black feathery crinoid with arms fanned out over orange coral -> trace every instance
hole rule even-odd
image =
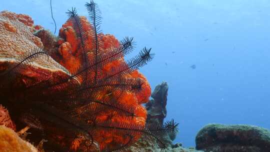
[[[151,49],[143,48],[124,61],[134,48],[133,38],[105,48],[97,4],[91,0],[85,7],[91,23],[88,30],[75,8],[67,12],[79,66],[63,69],[66,74],[61,75],[44,70],[38,77],[23,77],[36,62],[51,59],[46,50],[32,48],[1,69],[0,103],[8,107],[17,124],[20,121],[32,132],[41,132],[50,142],[48,149],[57,144],[58,151],[124,151],[139,138],[166,149],[163,136],[175,133],[177,124],[148,126],[144,108],[131,102],[145,83],[132,73],[152,59]],[[104,70],[108,65],[109,70]],[[32,138],[36,136],[32,133]]]

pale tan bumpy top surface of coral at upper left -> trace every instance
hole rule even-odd
[[[31,52],[34,48],[43,48],[40,38],[33,35],[34,27],[30,25],[32,20],[27,15],[23,17],[22,14],[9,11],[0,12],[0,64],[4,61],[12,62],[19,55]],[[40,70],[60,72],[65,70],[51,57],[45,55],[34,60],[32,65]]]

